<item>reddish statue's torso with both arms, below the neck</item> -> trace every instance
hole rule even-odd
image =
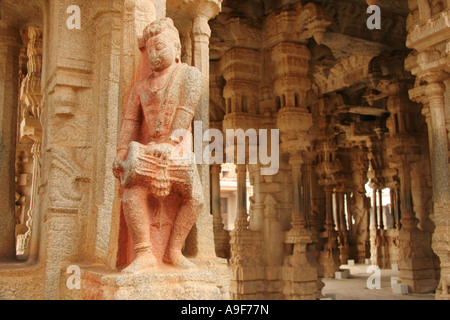
[[[133,88],[123,117],[119,149],[127,149],[132,141],[175,144],[172,133],[189,130],[201,96],[200,71],[178,64],[161,82],[158,88],[145,79]]]

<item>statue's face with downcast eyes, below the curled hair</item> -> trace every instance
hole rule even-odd
[[[147,42],[147,53],[154,71],[162,71],[175,63],[177,49],[173,35],[164,31]]]

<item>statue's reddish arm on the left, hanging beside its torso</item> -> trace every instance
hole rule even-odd
[[[126,152],[130,142],[137,141],[139,138],[139,130],[142,123],[142,107],[138,91],[136,85],[130,93],[123,113],[119,145],[117,148],[118,153]]]

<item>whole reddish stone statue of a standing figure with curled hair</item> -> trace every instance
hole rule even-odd
[[[169,18],[147,26],[142,49],[150,72],[129,95],[113,167],[136,253],[123,272],[162,263],[194,268],[182,248],[201,212],[203,189],[194,162],[175,161],[174,154],[180,131],[190,133],[202,75],[181,63],[179,33]]]

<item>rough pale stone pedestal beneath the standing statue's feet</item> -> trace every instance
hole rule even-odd
[[[194,259],[193,259],[194,260]],[[167,268],[135,275],[105,268],[81,267],[81,288],[61,281],[64,299],[75,300],[227,300],[229,276],[225,261],[195,260],[198,269]]]

